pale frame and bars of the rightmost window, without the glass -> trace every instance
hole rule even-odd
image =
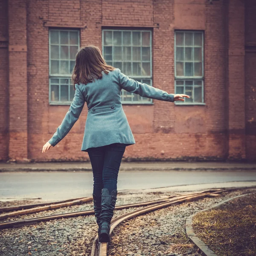
[[[178,32],[183,32],[183,33],[201,33],[202,35],[202,76],[177,76],[177,69],[176,69],[176,33]],[[184,84],[186,81],[193,81],[193,91],[192,91],[192,97],[193,97],[193,100],[195,99],[194,97],[194,93],[195,93],[195,84],[194,84],[194,81],[196,80],[199,80],[202,82],[202,102],[183,102],[183,101],[175,101],[175,105],[206,105],[205,102],[204,102],[204,79],[205,79],[205,75],[204,75],[204,49],[205,49],[205,45],[204,45],[204,37],[205,37],[205,33],[204,33],[204,30],[186,30],[186,29],[175,29],[174,30],[174,76],[175,76],[175,84],[174,84],[174,87],[175,87],[175,94],[177,94],[177,85],[176,85],[176,81],[184,81]],[[184,51],[185,51],[185,47],[186,45],[184,44],[183,48],[184,48]],[[193,47],[192,47],[192,51],[193,51],[193,58],[195,58],[195,43],[193,41]],[[195,63],[194,62],[195,60],[193,60],[193,64]],[[185,53],[184,53],[184,61],[185,62]],[[184,70],[185,72],[185,70]],[[193,73],[194,73],[194,65],[193,65]],[[184,85],[185,87],[185,85]],[[183,87],[183,88],[184,88]],[[183,90],[184,91],[184,90]],[[185,94],[185,92],[183,93]],[[186,98],[185,98],[186,100]]]

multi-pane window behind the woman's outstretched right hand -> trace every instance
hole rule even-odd
[[[190,96],[175,104],[204,104],[204,33],[175,31],[175,93]]]

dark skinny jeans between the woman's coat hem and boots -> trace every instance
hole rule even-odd
[[[88,148],[88,155],[93,169],[93,194],[101,195],[107,188],[109,194],[117,189],[117,177],[126,145],[113,143],[96,148]]]

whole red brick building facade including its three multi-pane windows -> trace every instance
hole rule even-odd
[[[76,44],[98,46],[113,65],[132,67],[128,73],[168,93],[192,93],[187,104],[124,96],[136,140],[124,158],[256,160],[255,13],[255,0],[0,1],[0,160],[89,160],[80,151],[86,104],[67,136],[41,152],[71,103],[58,85],[63,76],[51,72],[72,68]],[[132,47],[125,46],[128,32]],[[62,45],[61,35],[70,41]],[[145,45],[136,46],[136,36]],[[69,54],[66,62],[61,54]],[[124,64],[124,55],[134,62]],[[72,91],[66,96],[72,101]]]

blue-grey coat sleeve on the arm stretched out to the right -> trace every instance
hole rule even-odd
[[[122,89],[127,90],[130,93],[139,94],[142,97],[174,102],[174,94],[169,94],[166,91],[160,90],[151,85],[135,81],[134,79],[125,76],[125,74],[123,74],[119,68],[117,71],[119,76],[119,84]]]

